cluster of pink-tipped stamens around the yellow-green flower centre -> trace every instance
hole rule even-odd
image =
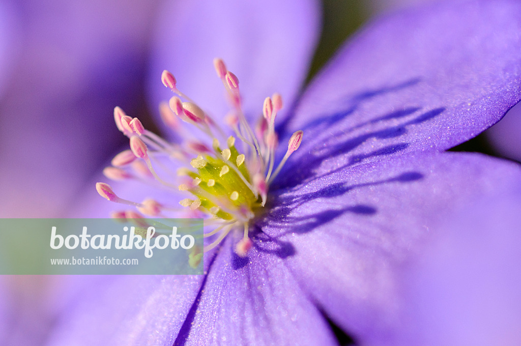
[[[239,79],[226,68],[221,59],[214,59],[214,66],[232,106],[225,121],[235,137],[227,136],[208,113],[179,91],[176,79],[165,70],[161,76],[162,82],[176,95],[170,98],[168,104],[162,103],[159,112],[166,125],[182,139],[182,144],[170,143],[148,131],[138,118],[131,118],[116,107],[114,120],[118,129],[130,139],[130,150],[116,155],[111,162],[112,166],[106,167],[103,172],[113,180],[139,179],[168,190],[186,191],[190,197],[179,202],[188,212],[185,215],[206,218],[205,226],[210,226],[212,230],[205,233],[204,237],[218,234],[212,243],[204,246],[204,251],[213,249],[230,231],[239,229],[244,232],[244,236],[236,244],[235,252],[245,256],[252,246],[249,237],[251,220],[261,213],[266,204],[270,182],[299,147],[303,132],[293,133],[286,155],[275,168],[275,150],[278,145],[275,117],[282,108],[282,97],[279,94],[266,97],[263,117],[254,131],[242,110]],[[186,138],[178,119],[206,134],[208,143]],[[239,149],[236,144],[240,143],[236,143],[235,138],[242,142]],[[175,179],[172,179],[165,159],[181,162],[186,167],[178,169]],[[157,170],[158,167],[161,171]],[[141,203],[121,199],[106,183],[96,183],[96,190],[109,201],[135,206],[139,211],[114,212],[112,216],[115,218],[142,219],[143,215],[171,217],[171,213],[179,212],[178,207],[161,204],[150,198]]]

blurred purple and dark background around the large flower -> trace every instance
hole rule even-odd
[[[100,198],[92,181],[127,143],[114,125],[116,105],[154,128],[157,105],[147,104],[144,86],[165,1],[172,0],[0,0],[0,217],[74,216],[78,201]],[[427,1],[323,0],[308,80],[371,17]],[[521,161],[521,107],[453,150]],[[55,313],[41,296],[54,284],[4,283],[10,293],[0,298],[0,314],[16,305],[7,325],[18,330],[19,344],[37,344]]]

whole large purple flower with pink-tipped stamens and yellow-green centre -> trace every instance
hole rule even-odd
[[[156,124],[114,105],[129,145],[70,217],[204,218],[204,274],[57,282],[42,344],[521,342],[521,167],[453,149],[521,100],[521,3],[376,16],[307,81],[320,23],[314,0],[159,6]]]

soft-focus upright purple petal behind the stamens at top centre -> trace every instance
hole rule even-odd
[[[160,82],[168,69],[183,93],[222,119],[230,106],[212,62],[220,57],[239,78],[246,115],[260,116],[275,92],[293,102],[318,39],[319,8],[315,0],[168,2],[157,29],[154,107],[172,96]]]

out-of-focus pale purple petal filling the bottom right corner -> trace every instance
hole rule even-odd
[[[454,213],[403,269],[400,338],[385,345],[521,344],[521,184]]]

